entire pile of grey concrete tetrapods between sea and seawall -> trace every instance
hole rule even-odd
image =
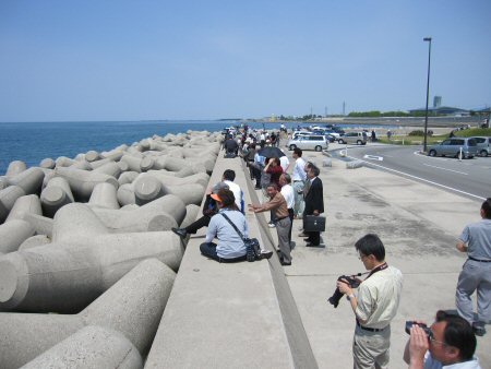
[[[141,368],[220,133],[12,162],[0,177],[0,367]],[[70,365],[68,365],[70,362]]]

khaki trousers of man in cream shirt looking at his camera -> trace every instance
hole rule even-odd
[[[352,341],[354,368],[388,368],[390,346],[391,326],[382,332],[369,332],[357,325]]]

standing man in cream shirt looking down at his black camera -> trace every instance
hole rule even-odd
[[[384,245],[376,235],[366,235],[355,248],[370,271],[358,287],[358,297],[347,281],[337,282],[337,288],[351,305],[357,323],[352,343],[354,368],[388,368],[391,321],[399,307],[403,274],[387,265]]]

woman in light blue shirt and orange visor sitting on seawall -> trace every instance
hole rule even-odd
[[[209,221],[205,242],[200,246],[201,253],[224,263],[244,261],[246,245],[224,216],[236,225],[244,238],[248,237],[248,223],[236,205],[233,192],[220,189],[217,193],[212,193],[212,199],[218,205],[218,214]],[[218,245],[212,242],[215,237],[218,238]]]

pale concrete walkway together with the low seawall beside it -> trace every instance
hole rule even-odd
[[[290,156],[290,152],[287,153]],[[320,153],[304,158],[321,167],[324,183],[325,248],[306,248],[294,222],[292,265],[270,261],[219,264],[202,257],[204,230],[188,243],[146,367],[148,368],[351,368],[355,319],[346,300],[326,299],[342,274],[363,272],[355,242],[368,233],[385,245],[387,262],[405,281],[392,324],[391,368],[403,361],[406,320],[431,323],[439,309],[454,309],[455,286],[465,255],[455,249],[467,223],[479,219],[480,203],[375,169],[346,169]],[[290,162],[294,160],[290,158]],[[209,183],[236,170],[246,203],[263,201],[240,159],[219,156]],[[290,169],[291,170],[291,169]],[[247,213],[251,236],[272,248],[276,231],[263,215]],[[491,367],[491,334],[478,337],[477,356]]]

